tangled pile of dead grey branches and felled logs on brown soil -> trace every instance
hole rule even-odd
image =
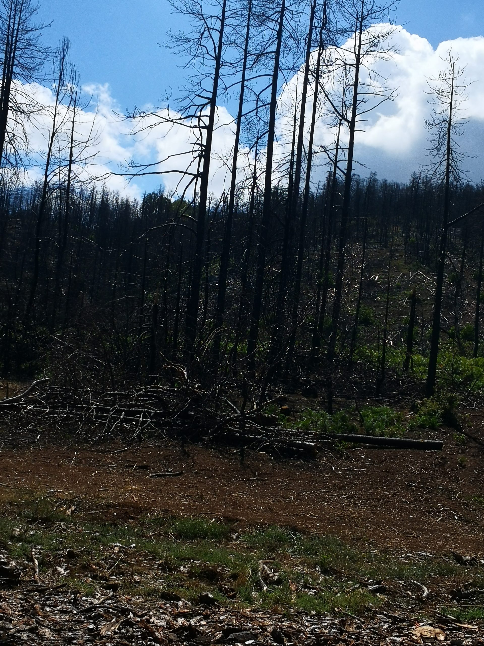
[[[100,391],[34,382],[23,393],[0,401],[0,419],[12,435],[38,440],[41,435],[70,436],[88,443],[147,437],[181,442],[223,445],[274,453],[281,457],[314,458],[318,448],[336,441],[387,448],[439,450],[430,440],[321,433],[310,428],[290,428],[265,408],[282,396],[256,404],[242,389],[238,408],[222,394],[221,386],[208,391],[199,384],[150,385],[126,390]],[[249,404],[249,405],[247,405]]]

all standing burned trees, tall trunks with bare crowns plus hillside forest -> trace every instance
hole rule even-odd
[[[393,3],[174,8],[190,26],[171,47],[190,58],[191,85],[175,110],[130,119],[138,134],[180,127],[192,143],[178,191],[136,201],[92,170],[96,127],[79,126],[86,99],[68,41],[48,50],[34,4],[0,1],[3,380],[49,377],[114,398],[190,381],[218,402],[227,386],[237,412],[281,384],[323,396],[330,414],[337,399],[479,395],[484,186],[462,171],[458,58],[449,52],[429,85],[428,165],[388,182],[356,174],[354,144],[365,114],[402,91],[368,63],[394,53]],[[297,96],[284,102],[289,72]],[[24,96],[28,83],[46,85],[52,105]],[[230,92],[234,140],[214,193],[217,106]],[[40,113],[35,153],[19,124]],[[323,122],[330,145],[316,143]],[[116,172],[168,181],[163,163]],[[34,167],[39,180],[26,183]]]

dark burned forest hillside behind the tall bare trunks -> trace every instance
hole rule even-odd
[[[338,197],[340,189],[338,184]],[[163,193],[148,194],[138,204],[107,191],[81,190],[71,196],[66,222],[61,195],[53,195],[44,225],[35,304],[28,313],[36,218],[32,205],[39,199],[38,191],[14,189],[3,202],[4,379],[28,380],[45,374],[59,385],[118,390],[126,382],[182,382],[183,366],[207,382],[241,379],[250,366],[261,381],[292,373],[299,377],[327,374],[334,247],[338,244],[335,232],[339,227],[335,209],[333,230],[328,231],[330,188],[310,196],[300,311],[294,327],[289,307],[293,271],[288,271],[281,321],[276,320],[284,235],[280,215],[287,194],[277,189],[272,193],[279,217],[274,217],[268,231],[261,326],[254,357],[248,357],[247,338],[257,262],[256,220],[262,198],[254,203],[254,218],[248,217],[250,204],[237,205],[217,363],[213,359],[214,317],[226,218],[224,205],[208,209],[197,344],[191,364],[184,349],[184,331],[192,288],[196,209],[173,202]],[[469,211],[484,201],[483,193],[482,187],[472,186],[455,191],[452,213]],[[409,377],[415,382],[425,380],[442,200],[441,189],[429,180],[414,178],[408,185],[360,178],[352,182],[334,370],[339,379],[361,389],[361,395],[374,395],[377,388],[382,392],[387,386],[394,388],[395,379],[401,380],[403,375],[405,383]],[[62,236],[66,225],[65,260],[59,266],[59,230]],[[481,218],[472,216],[450,229],[443,287],[438,380],[446,389],[459,387],[469,393],[484,382],[479,376],[484,368],[483,339],[476,317],[481,300],[482,231]],[[327,274],[324,267],[321,271],[321,249],[330,251]],[[61,285],[57,295],[56,282]],[[276,326],[281,329],[277,351]],[[296,342],[290,351],[293,333]],[[349,383],[340,385],[352,395]]]

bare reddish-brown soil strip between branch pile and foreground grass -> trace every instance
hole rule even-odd
[[[484,435],[479,427],[473,432]],[[0,453],[0,481],[96,499],[105,519],[203,515],[378,548],[482,554],[484,449],[469,441],[461,466],[452,432],[444,441],[442,452],[357,448],[345,457],[320,453],[307,463],[250,453],[244,466],[235,452],[189,446],[187,455],[174,443],[116,453],[116,446],[34,445]],[[168,470],[183,474],[148,477]]]

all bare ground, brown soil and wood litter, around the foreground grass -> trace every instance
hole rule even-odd
[[[474,415],[472,419],[472,433],[483,439],[481,418]],[[25,527],[4,528],[3,548],[12,554],[17,550],[17,556],[12,560],[0,554],[4,576],[0,644],[410,646],[441,640],[452,646],[483,646],[481,606],[476,605],[483,586],[478,586],[476,564],[484,556],[484,448],[470,440],[459,446],[452,430],[439,435],[444,441],[442,452],[352,448],[343,453],[320,452],[314,461],[277,460],[251,452],[244,464],[235,450],[183,448],[174,442],[89,448],[47,444],[40,438],[28,446],[3,446],[0,510],[5,509],[7,524],[8,518],[25,524],[15,509],[21,511],[23,501],[32,496],[57,499],[55,508],[63,505],[65,514],[76,513],[72,526],[61,518],[39,517]],[[109,531],[116,532],[116,527],[122,530],[131,525],[136,532],[136,520],[150,516],[234,521],[230,531],[236,534],[227,539],[227,545],[213,543],[214,558],[224,545],[230,555],[240,550],[240,545],[230,541],[243,536],[239,530],[245,526],[278,525],[303,534],[339,537],[367,554],[374,549],[375,554],[390,555],[390,561],[408,561],[410,565],[400,569],[419,572],[419,581],[425,581],[428,589],[409,573],[405,580],[385,579],[374,585],[368,576],[336,568],[327,574],[311,570],[319,583],[310,585],[321,589],[307,590],[309,584],[301,583],[303,579],[296,582],[295,570],[296,574],[289,575],[294,580],[287,583],[294,607],[281,607],[277,603],[280,583],[270,583],[276,581],[277,573],[269,567],[272,605],[265,607],[257,601],[263,594],[257,581],[252,581],[254,607],[237,605],[237,600],[232,603],[232,598],[220,602],[203,593],[206,582],[192,580],[198,570],[202,578],[204,572],[216,572],[225,577],[219,589],[227,592],[224,586],[231,581],[224,574],[227,567],[207,567],[199,560],[203,549],[212,554],[211,543],[197,547],[188,541],[188,551],[199,552],[187,561],[183,547],[178,561],[166,569],[166,559],[159,561],[156,550],[148,552],[147,543],[145,547],[143,543],[125,545],[132,540],[128,534],[121,542],[111,537],[103,543],[99,537],[96,552],[95,543],[88,541],[97,540],[99,528],[93,534],[80,526],[85,521],[110,523]],[[141,523],[139,528],[136,541],[148,531]],[[30,559],[28,550],[19,552],[23,543],[17,541],[25,542],[35,532],[50,534],[43,547],[35,547],[42,561],[34,581],[34,547]],[[85,541],[83,547],[67,549],[70,543],[64,541],[76,545],[76,539]],[[144,537],[145,542],[157,539],[163,539],[163,532],[150,530]],[[182,543],[175,541],[174,549],[180,550]],[[165,550],[167,545],[171,543],[166,543]],[[280,557],[283,550],[277,554]],[[456,556],[473,558],[455,566]],[[428,557],[428,565],[418,565],[422,559],[427,563]],[[274,558],[270,554],[259,565],[270,565]],[[453,562],[456,571],[449,579],[439,574],[439,568],[452,569]],[[424,572],[429,580],[421,578]],[[202,594],[187,601],[181,592],[170,592],[170,585],[181,585],[180,581],[201,586]],[[156,590],[148,594],[154,584]],[[218,583],[210,585],[213,588]],[[343,600],[348,605],[351,595],[360,592],[361,603],[367,601],[361,613],[354,610],[358,616],[342,609]],[[316,600],[332,594],[334,609],[310,610],[306,599],[312,599],[311,594]]]

